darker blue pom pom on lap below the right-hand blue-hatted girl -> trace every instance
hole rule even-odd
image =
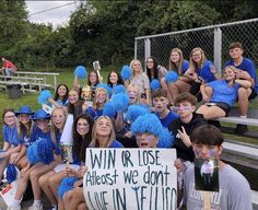
[[[54,161],[52,154],[54,144],[51,140],[42,139],[37,144],[37,153],[40,159],[40,162],[48,165]]]

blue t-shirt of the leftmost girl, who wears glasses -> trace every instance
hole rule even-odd
[[[10,143],[11,145],[19,145],[22,144],[22,142],[19,140],[17,137],[17,127],[16,125],[11,128],[7,125],[3,125],[2,127],[2,135],[3,135],[3,140],[8,143]]]

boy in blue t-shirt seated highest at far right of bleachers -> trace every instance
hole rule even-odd
[[[238,42],[232,43],[228,47],[231,59],[225,62],[226,66],[235,66],[241,71],[237,73],[236,79],[244,79],[251,82],[251,88],[238,89],[238,110],[241,118],[247,117],[248,112],[248,100],[253,100],[257,96],[258,93],[258,81],[255,63],[253,60],[243,57],[244,48],[243,45]],[[247,131],[246,125],[237,125],[235,132],[237,135],[243,135]]]

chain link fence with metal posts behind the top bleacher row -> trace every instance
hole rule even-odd
[[[207,58],[213,61],[220,71],[230,58],[228,46],[233,42],[241,42],[245,50],[244,56],[258,63],[258,19],[141,36],[136,37],[134,42],[134,57],[142,63],[152,56],[160,65],[168,68],[172,48],[180,48],[184,58],[189,60],[191,49],[201,47]]]

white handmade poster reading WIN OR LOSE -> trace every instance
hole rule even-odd
[[[83,194],[87,208],[176,209],[175,149],[87,149]]]

